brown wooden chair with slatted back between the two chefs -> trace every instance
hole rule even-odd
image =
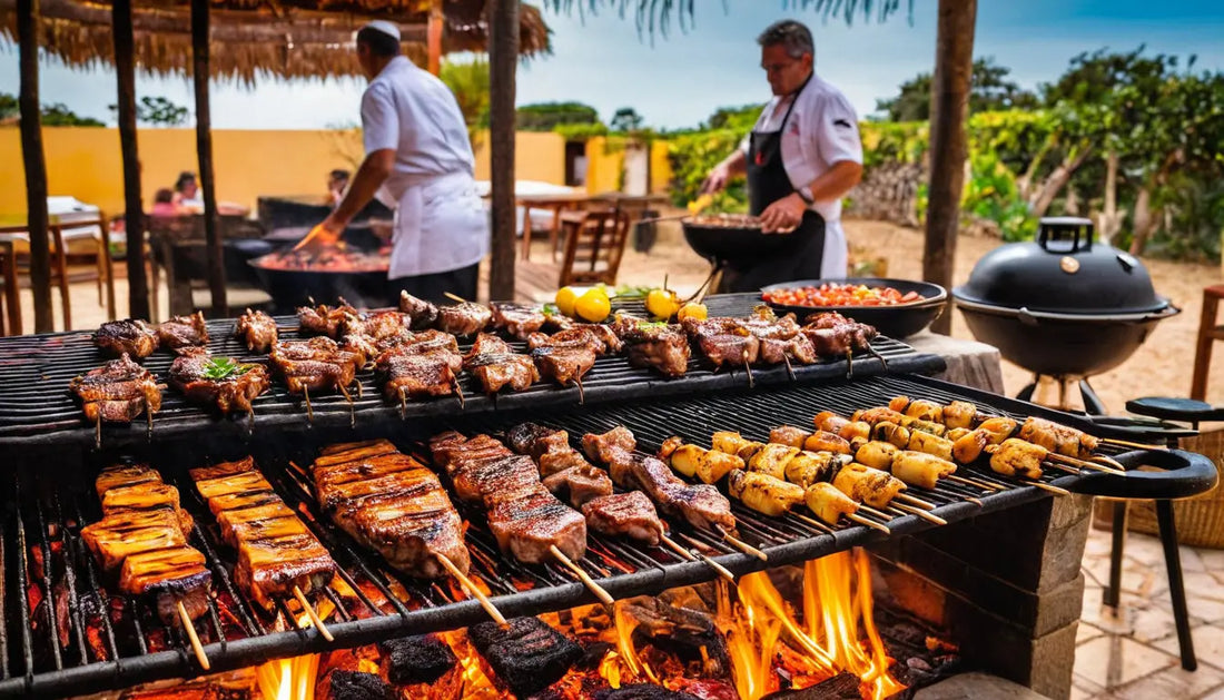
[[[558,286],[616,284],[621,258],[629,240],[629,215],[619,209],[584,212],[563,217],[565,259]]]

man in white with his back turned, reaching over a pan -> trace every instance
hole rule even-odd
[[[490,226],[468,127],[450,89],[401,56],[399,40],[399,27],[381,20],[357,32],[357,60],[370,80],[361,97],[366,158],[335,210],[299,247],[334,245],[377,195],[395,206],[390,292],[475,299]]]

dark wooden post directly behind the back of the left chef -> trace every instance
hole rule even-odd
[[[493,213],[488,299],[514,299],[514,78],[519,0],[488,1],[488,147]]]

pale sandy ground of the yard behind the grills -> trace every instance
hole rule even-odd
[[[920,277],[923,245],[920,231],[880,222],[846,222],[846,230],[857,255],[864,258],[886,258],[890,277],[909,279]],[[1000,244],[995,239],[962,236],[956,255],[956,284],[962,284],[968,278],[973,263],[998,245]],[[541,240],[537,247],[532,248],[534,261],[548,257],[546,246],[547,244]],[[1124,404],[1131,398],[1157,394],[1187,395],[1195,360],[1193,344],[1202,305],[1202,289],[1224,281],[1219,267],[1166,261],[1146,261],[1146,264],[1155,281],[1157,291],[1170,297],[1182,313],[1162,322],[1126,363],[1092,379],[1093,388],[1115,414],[1122,412]],[[87,272],[88,268],[77,269]],[[120,306],[127,299],[121,270],[122,268],[115,285]],[[709,264],[685,245],[679,224],[667,222],[659,224],[659,239],[649,253],[639,253],[632,245],[625,251],[619,283],[659,285],[667,275],[670,286],[687,295],[705,280],[707,273]],[[105,312],[98,306],[92,280],[72,284],[71,297],[73,328],[95,328],[105,321]],[[33,310],[28,291],[23,291],[22,301],[24,329],[29,333],[33,327]],[[55,326],[62,328],[58,292],[54,302]],[[162,308],[165,308],[164,294]],[[972,338],[958,312],[953,315],[952,335]],[[1034,338],[1033,341],[1039,343],[1040,339]],[[1005,362],[1004,379],[1009,394],[1020,392],[1031,378],[1026,371]],[[1214,373],[1211,377],[1207,398],[1217,404],[1224,403],[1224,343],[1215,345]]]

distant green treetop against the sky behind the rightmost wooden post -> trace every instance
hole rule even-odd
[[[1007,80],[1009,75],[1011,69],[995,64],[994,56],[976,59],[969,114],[1038,106],[1037,95]],[[930,119],[930,73],[918,73],[901,83],[897,97],[876,100],[876,111],[885,113],[890,121],[927,121]]]

